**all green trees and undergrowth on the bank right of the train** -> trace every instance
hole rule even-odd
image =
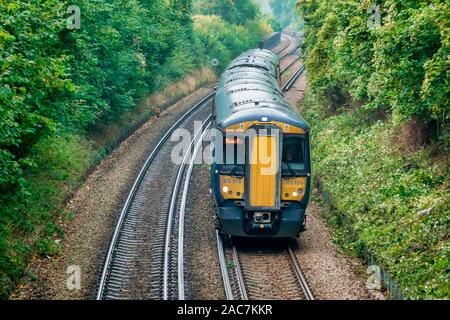
[[[420,119],[448,151],[449,2],[386,0],[369,28],[372,4],[299,1],[315,175],[341,246],[369,250],[407,298],[446,299],[448,156],[434,144],[406,154],[396,137]]]

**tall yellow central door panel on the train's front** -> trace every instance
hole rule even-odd
[[[255,136],[250,152],[250,206],[276,205],[278,154],[273,136]]]

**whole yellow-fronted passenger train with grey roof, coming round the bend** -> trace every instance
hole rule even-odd
[[[216,227],[238,237],[298,237],[311,193],[310,127],[286,101],[280,61],[251,49],[221,75],[213,102]]]

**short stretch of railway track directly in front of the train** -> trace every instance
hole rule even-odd
[[[289,245],[227,246],[218,232],[216,237],[228,300],[314,300]]]

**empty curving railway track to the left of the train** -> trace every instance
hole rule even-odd
[[[186,298],[184,214],[191,160],[207,130],[195,133],[192,155],[186,154],[178,166],[168,161],[172,150],[169,138],[176,129],[188,128],[195,120],[202,120],[203,129],[207,129],[211,117],[207,106],[213,96],[209,94],[166,132],[138,174],[111,240],[97,299]]]

